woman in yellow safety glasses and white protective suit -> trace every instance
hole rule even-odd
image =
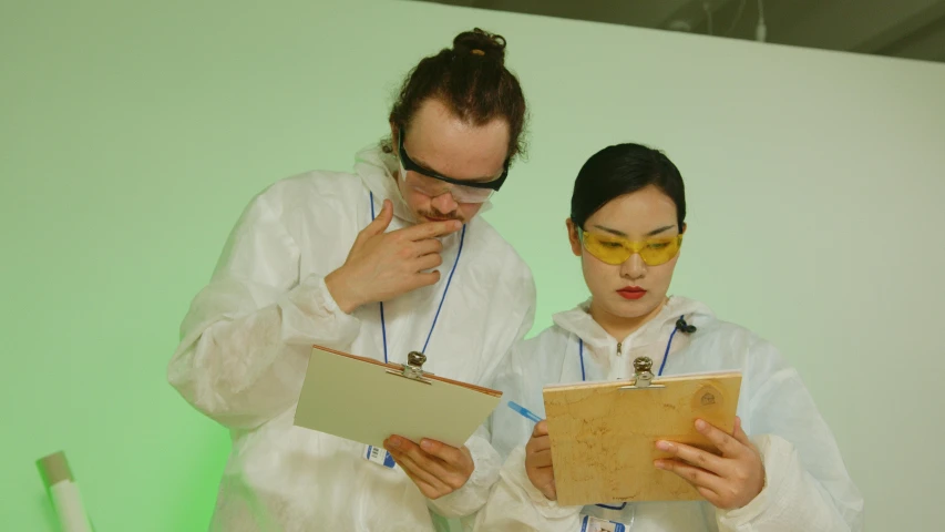
[[[606,147],[582,167],[571,205],[568,242],[592,297],[516,346],[493,386],[544,418],[545,385],[628,379],[637,357],[649,357],[659,376],[739,370],[735,430],[696,422],[718,453],[656,443],[672,458],[654,468],[690,482],[705,501],[568,508],[555,502],[546,422],[533,426],[512,409],[496,410],[492,442],[505,464],[477,529],[862,530],[863,499],[798,372],[751,331],[698,301],[667,296],[686,232],[676,165],[638,144]]]

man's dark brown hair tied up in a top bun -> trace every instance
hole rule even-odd
[[[483,125],[494,119],[509,123],[509,158],[524,152],[525,96],[518,79],[505,68],[505,39],[479,28],[453,39],[444,48],[414,66],[400,89],[390,111],[390,121],[400,127],[410,121],[428,99],[435,98],[461,120]],[[383,149],[392,151],[390,142]]]

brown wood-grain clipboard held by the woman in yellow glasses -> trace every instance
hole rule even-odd
[[[587,505],[688,501],[702,497],[675,473],[656,469],[668,458],[658,440],[718,453],[697,419],[727,433],[735,429],[741,374],[653,378],[653,362],[635,360],[633,380],[544,388],[557,502]]]

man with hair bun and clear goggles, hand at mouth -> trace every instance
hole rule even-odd
[[[505,40],[463,32],[407,75],[390,139],[355,172],[297,175],[250,202],[168,367],[230,429],[212,530],[422,531],[485,503],[501,461],[484,428],[461,448],[391,434],[374,449],[294,417],[314,344],[397,364],[425,351],[439,376],[494,377],[532,327],[535,293],[476,215],[521,151],[525,115]]]

